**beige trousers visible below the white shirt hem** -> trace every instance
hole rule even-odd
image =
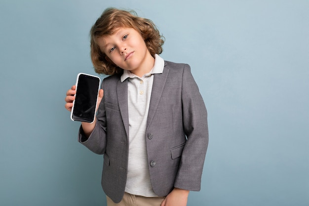
[[[114,203],[111,198],[106,196],[107,206],[160,206],[164,199],[164,197],[147,198],[125,192],[121,202]]]

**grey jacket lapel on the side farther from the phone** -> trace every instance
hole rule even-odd
[[[166,66],[166,62],[164,64],[164,69],[162,74],[154,74],[154,83],[153,89],[150,98],[148,119],[147,119],[147,127],[151,123],[154,118],[154,113],[159,104],[162,92],[164,90],[165,82],[167,80],[169,68]]]

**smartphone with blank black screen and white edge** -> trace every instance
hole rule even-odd
[[[100,78],[93,75],[84,73],[77,75],[71,120],[86,123],[94,122],[100,82]]]

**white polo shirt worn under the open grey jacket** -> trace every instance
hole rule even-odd
[[[162,74],[164,60],[154,56],[154,68],[143,77],[124,70],[121,82],[128,79],[129,162],[125,192],[144,197],[156,197],[149,174],[146,148],[146,126],[154,75]]]

